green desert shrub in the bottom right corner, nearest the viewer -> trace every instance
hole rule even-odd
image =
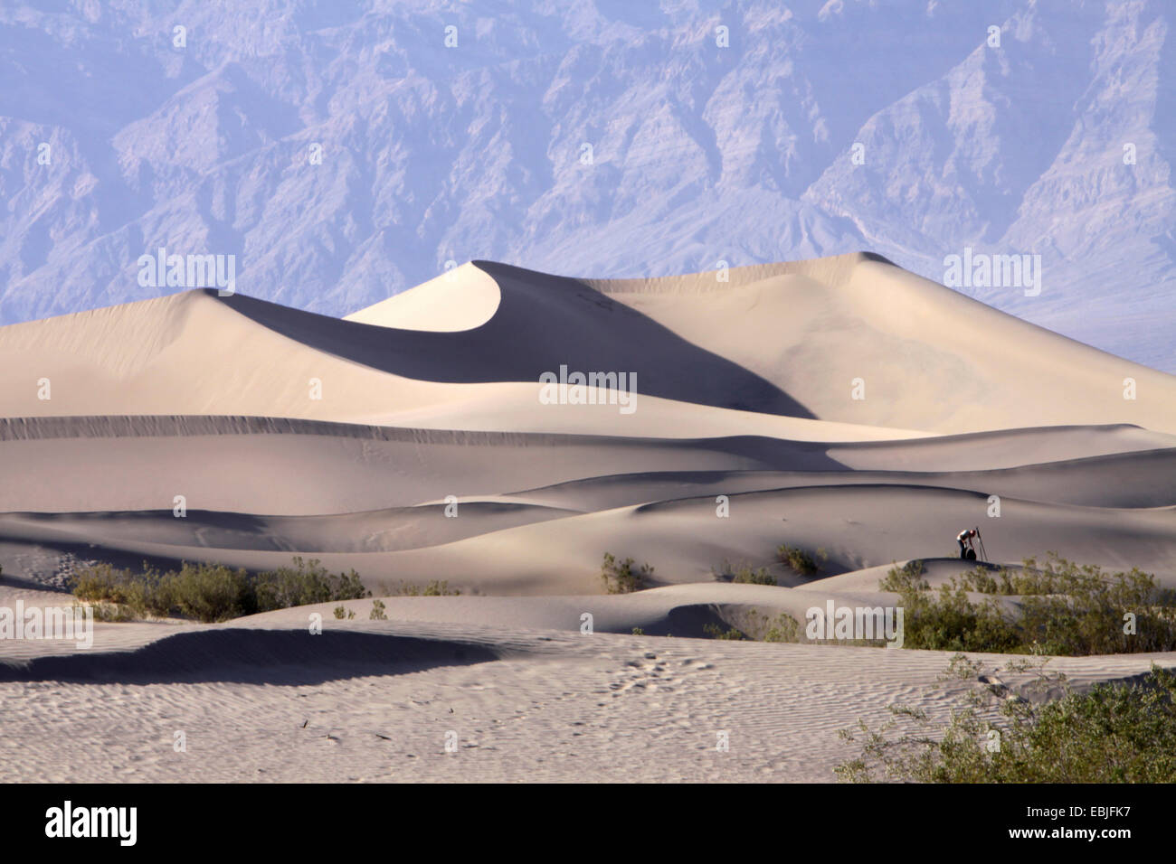
[[[973,677],[978,669],[978,663],[956,657],[949,675]],[[1036,689],[1061,683],[1062,696],[1035,704],[984,676],[989,683],[967,692],[938,734],[923,711],[901,705],[891,706],[894,718],[880,730],[864,722],[842,730],[842,738],[862,744],[862,755],[838,765],[836,775],[857,783],[1176,782],[1171,671],[1152,665],[1141,681],[1074,692],[1064,676],[1041,670]],[[1001,703],[998,719],[993,718],[994,702]],[[896,736],[900,722],[907,729]]]

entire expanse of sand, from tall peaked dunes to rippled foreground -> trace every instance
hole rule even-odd
[[[704,625],[890,604],[893,562],[947,580],[977,523],[994,561],[1054,549],[1176,587],[1176,377],[875,255],[727,281],[476,261],[342,320],[186,292],[0,328],[0,605],[68,605],[86,562],[303,555],[354,568],[389,618],[362,600],[352,621],[327,604],[99,624],[88,651],[2,643],[26,743],[4,779],[830,781],[855,755],[836,730],[918,699],[947,655]],[[561,366],[635,373],[635,409],[544,404]],[[782,542],[824,549],[818,576],[775,564]],[[657,587],[602,595],[606,551]],[[780,587],[719,582],[724,561]],[[462,596],[388,596],[432,580]],[[1151,659],[1176,664],[1057,665],[1089,683]],[[175,717],[199,764],[159,744]],[[95,741],[106,757],[79,758]]]

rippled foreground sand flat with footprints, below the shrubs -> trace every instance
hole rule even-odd
[[[837,730],[896,702],[944,719],[975,686],[937,683],[936,651],[400,621],[312,636],[285,615],[122,625],[121,655],[0,670],[0,779],[830,782],[857,755]],[[1081,686],[1151,661],[1176,655],[1053,665]]]

